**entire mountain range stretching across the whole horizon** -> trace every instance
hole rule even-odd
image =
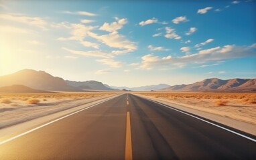
[[[142,87],[115,87],[99,81],[68,81],[45,71],[23,69],[0,76],[0,92],[45,91],[256,91],[256,79],[204,79],[189,85],[147,85]]]

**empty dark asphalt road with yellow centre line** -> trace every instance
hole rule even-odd
[[[255,159],[255,136],[242,136],[123,94],[0,142],[0,159]]]

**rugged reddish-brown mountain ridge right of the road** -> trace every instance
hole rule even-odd
[[[164,91],[256,91],[256,79],[204,79],[189,85],[174,85]]]

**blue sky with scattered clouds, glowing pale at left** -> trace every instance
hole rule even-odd
[[[256,1],[1,1],[0,75],[113,86],[256,77]]]

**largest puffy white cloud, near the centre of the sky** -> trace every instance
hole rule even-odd
[[[119,35],[119,33],[116,31],[109,33],[108,35],[97,35],[96,33],[92,32],[88,33],[88,35],[94,39],[97,39],[98,41],[101,41],[101,43],[104,43],[109,47],[129,49],[131,51],[135,51],[137,49],[135,43],[127,40],[123,35]]]

